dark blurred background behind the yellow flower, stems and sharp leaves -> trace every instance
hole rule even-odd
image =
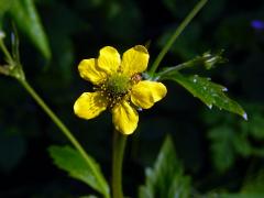
[[[52,48],[45,61],[20,32],[21,59],[28,80],[101,164],[110,179],[112,123],[109,112],[86,121],[73,112],[84,91],[91,90],[77,72],[84,58],[102,46],[120,53],[151,42],[151,62],[195,0],[35,1]],[[244,121],[217,108],[209,110],[179,85],[166,81],[168,94],[154,108],[140,112],[124,163],[124,191],[136,196],[144,168],[152,166],[166,134],[200,194],[240,191],[262,173],[264,156],[264,1],[209,0],[173,45],[162,66],[173,66],[207,51],[224,50],[228,63],[213,70],[187,70],[211,77],[229,88],[249,114]],[[7,19],[7,24],[11,19]],[[9,26],[9,25],[7,25]],[[9,36],[8,36],[9,37]],[[8,37],[6,38],[8,41]],[[94,191],[56,168],[47,147],[68,141],[12,78],[0,77],[0,197],[77,197]]]

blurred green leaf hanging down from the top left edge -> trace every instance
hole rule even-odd
[[[15,24],[31,38],[46,59],[52,56],[47,36],[42,26],[33,0],[16,0],[12,3],[10,14]]]

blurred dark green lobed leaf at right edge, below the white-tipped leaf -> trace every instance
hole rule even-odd
[[[209,123],[207,136],[210,142],[211,160],[217,170],[230,169],[239,157],[264,156],[264,114],[262,106],[245,105],[251,119],[248,122],[238,120],[232,114],[219,114],[207,111],[205,120]]]

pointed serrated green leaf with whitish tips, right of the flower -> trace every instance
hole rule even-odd
[[[216,106],[220,110],[224,109],[240,114],[248,120],[248,116],[242,107],[224,94],[228,89],[219,84],[210,81],[209,78],[199,77],[198,75],[186,77],[177,72],[174,72],[173,74],[167,75],[166,79],[177,81],[190,94],[193,94],[194,97],[199,98],[210,109],[212,106]]]

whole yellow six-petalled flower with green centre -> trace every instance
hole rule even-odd
[[[101,48],[97,59],[82,59],[78,66],[80,77],[94,84],[95,92],[84,92],[76,100],[75,113],[92,119],[110,109],[116,130],[133,133],[139,122],[136,109],[151,108],[167,92],[162,82],[142,80],[148,57],[147,50],[136,45],[124,52],[122,59],[111,46]]]

